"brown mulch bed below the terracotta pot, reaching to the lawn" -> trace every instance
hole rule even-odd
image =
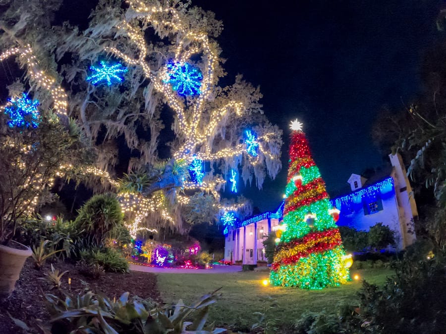
[[[72,263],[58,261],[53,265],[60,272],[69,271],[62,277],[61,287],[65,290],[70,289],[73,294],[92,290],[95,293],[104,293],[112,298],[113,296],[119,297],[123,292],[129,291],[131,296],[137,295],[142,298],[161,301],[159,291],[156,288],[157,279],[152,273],[104,273],[98,279],[92,279],[80,274],[78,268]],[[44,294],[55,293],[56,290],[50,291],[49,283],[38,278],[45,277],[45,273],[50,270],[49,263],[45,264],[40,271],[36,270],[33,260],[31,258],[27,259],[12,295],[8,299],[0,301],[1,334],[25,333],[14,325],[7,312],[31,327],[31,333],[41,333],[37,326],[39,319],[42,322],[50,319]],[[71,278],[71,287],[68,285],[68,278]]]

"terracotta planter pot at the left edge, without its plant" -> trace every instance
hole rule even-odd
[[[9,241],[13,247],[0,245],[0,298],[8,297],[14,290],[23,264],[33,253],[31,248],[16,241]]]

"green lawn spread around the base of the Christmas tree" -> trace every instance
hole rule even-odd
[[[369,283],[381,285],[392,275],[390,269],[364,269],[352,273],[359,274]],[[304,311],[328,312],[335,309],[338,302],[354,304],[356,292],[361,282],[352,281],[346,285],[323,290],[301,290],[277,286],[263,286],[262,280],[268,272],[238,272],[230,274],[158,274],[158,288],[166,303],[182,299],[186,304],[210,293],[219,287],[222,296],[211,306],[209,321],[217,327],[248,332],[257,318],[254,312],[268,309],[267,318],[278,319],[279,326],[289,324],[300,318]],[[276,302],[276,303],[275,303]]]

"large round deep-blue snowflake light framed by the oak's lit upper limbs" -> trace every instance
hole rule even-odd
[[[200,95],[203,74],[198,67],[189,63],[173,63],[166,65],[168,79],[165,83],[172,85],[172,89],[182,96]]]

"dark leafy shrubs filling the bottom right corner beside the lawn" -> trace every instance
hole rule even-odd
[[[363,281],[358,306],[304,314],[297,333],[443,333],[446,292],[440,287],[446,284],[445,274],[444,263],[415,261],[406,254],[384,286]]]

